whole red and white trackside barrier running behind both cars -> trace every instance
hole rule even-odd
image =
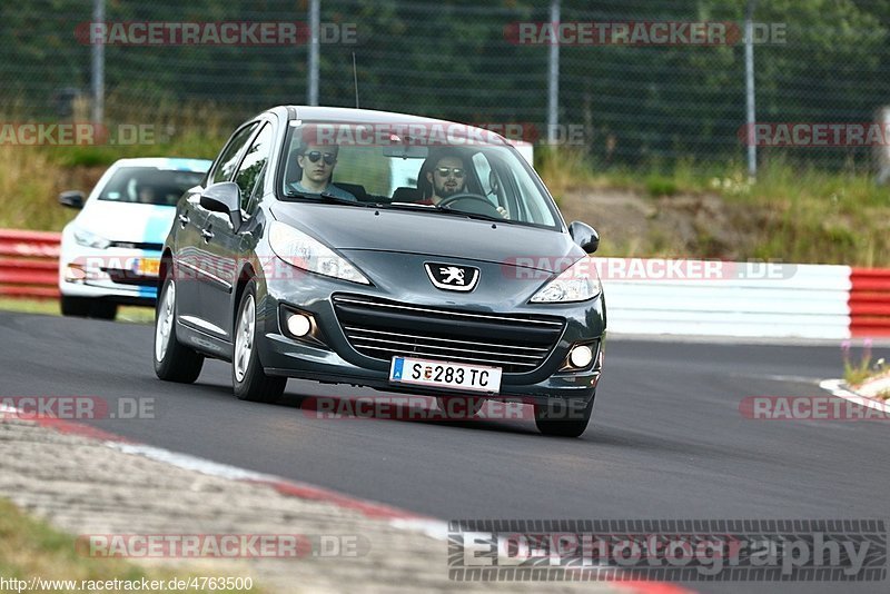
[[[0,229],[0,296],[58,297],[59,240],[56,232]],[[890,337],[890,269],[785,264],[780,278],[665,280],[611,274],[646,270],[657,260],[595,259],[607,271],[603,286],[615,334]],[[685,263],[685,269],[704,264]]]

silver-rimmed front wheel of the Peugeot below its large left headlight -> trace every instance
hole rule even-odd
[[[231,358],[231,385],[239,400],[274,403],[281,397],[286,377],[268,376],[259,362],[257,338],[257,285],[250,280],[241,294],[235,319],[235,353]]]

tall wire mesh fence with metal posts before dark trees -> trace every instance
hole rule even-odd
[[[182,44],[164,37],[169,28],[158,42],[107,40],[108,121],[187,112],[199,122],[204,108],[233,123],[313,95],[312,0],[99,3],[102,21],[130,27],[297,23],[296,42]],[[546,27],[553,4],[568,26],[556,29],[557,44]],[[872,151],[886,148],[882,128],[883,136],[869,136],[876,132],[869,126],[890,97],[890,0],[319,0],[318,7],[322,105],[514,123],[525,139],[550,135],[587,150],[602,167],[744,162],[750,11],[758,33],[754,120],[764,126],[754,138],[759,160],[866,169]],[[0,117],[89,113],[93,10],[86,0],[0,6]],[[654,23],[674,27],[664,37]],[[695,27],[714,23],[723,23],[721,39],[694,38]],[[548,118],[550,81],[557,92]],[[548,127],[554,116],[558,126]],[[857,136],[863,126],[866,136]]]

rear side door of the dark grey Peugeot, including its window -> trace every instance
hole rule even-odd
[[[207,175],[206,187],[184,200],[182,210],[177,215],[176,224],[181,227],[180,235],[184,237],[182,241],[177,242],[176,254],[177,275],[180,278],[177,317],[182,324],[224,339],[228,339],[229,333],[214,321],[206,300],[208,295],[212,295],[210,287],[230,286],[231,281],[225,278],[224,263],[217,261],[212,253],[211,241],[219,225],[216,218],[211,218],[211,212],[200,205],[200,197],[207,187],[231,180],[257,126],[258,122],[253,121],[235,131]]]

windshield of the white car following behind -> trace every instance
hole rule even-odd
[[[187,189],[200,184],[204,174],[155,167],[121,167],[102,188],[99,200],[176,206]]]

